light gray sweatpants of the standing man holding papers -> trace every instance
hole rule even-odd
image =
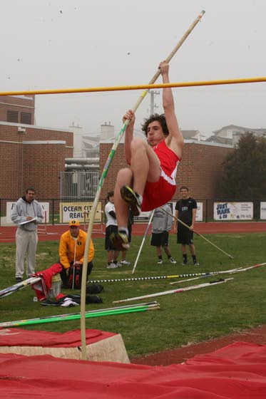
[[[38,244],[37,231],[27,232],[18,228],[16,230],[16,277],[23,278],[24,258],[27,254],[27,276],[31,276],[35,271],[36,249]]]

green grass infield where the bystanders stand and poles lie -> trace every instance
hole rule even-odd
[[[130,278],[138,276],[165,276],[188,274],[203,271],[219,271],[237,266],[251,266],[266,261],[265,234],[215,234],[206,236],[234,259],[227,258],[205,240],[195,237],[200,266],[181,266],[180,247],[175,244],[175,236],[170,236],[172,256],[178,263],[170,264],[164,256],[164,264],[158,266],[155,249],[150,247],[149,237],[143,246],[135,274],[133,263],[137,257],[142,237],[133,237],[127,260],[131,266],[119,269],[106,269],[106,252],[103,239],[94,239],[96,255],[91,279]],[[0,289],[14,284],[15,244],[0,244]],[[58,242],[39,242],[37,251],[38,270],[46,269],[58,259]],[[159,311],[140,314],[125,314],[89,318],[87,328],[121,333],[128,356],[138,356],[166,349],[197,343],[218,336],[225,336],[246,328],[266,323],[265,286],[266,266],[238,274],[222,275],[234,277],[232,281],[180,294],[159,296],[154,300],[160,304]],[[203,284],[220,276],[198,279],[192,282],[170,286],[172,279],[158,281],[127,281],[103,284],[101,293],[103,304],[90,304],[87,310],[113,307],[112,301],[152,294],[181,286]],[[64,293],[69,292],[64,290]],[[77,291],[75,291],[77,293]],[[76,313],[79,308],[41,306],[33,301],[34,291],[27,286],[0,300],[0,321]],[[150,301],[153,299],[147,299]],[[133,304],[141,301],[128,302]],[[122,304],[123,305],[123,304]],[[80,321],[64,321],[25,327],[31,330],[64,332],[80,328]]]

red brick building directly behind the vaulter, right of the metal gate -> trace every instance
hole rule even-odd
[[[111,142],[100,143],[100,175],[112,145]],[[176,177],[177,187],[187,185],[190,194],[197,199],[223,197],[220,187],[221,165],[230,151],[232,151],[231,145],[185,140],[185,149]],[[117,172],[122,167],[127,165],[123,155],[123,144],[119,144],[103,185],[102,199],[106,197],[108,191],[113,190]],[[178,199],[178,192],[179,189],[175,192],[173,200]]]

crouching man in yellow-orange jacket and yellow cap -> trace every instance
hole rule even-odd
[[[61,235],[59,244],[59,258],[62,265],[60,275],[63,288],[80,289],[87,233],[80,229],[77,219],[72,219],[68,226],[68,231]],[[91,241],[88,249],[87,278],[93,268],[93,256],[94,247]]]

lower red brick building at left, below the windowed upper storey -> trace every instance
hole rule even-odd
[[[38,198],[58,198],[66,157],[73,157],[70,130],[0,122],[0,198],[17,199],[30,185]]]

